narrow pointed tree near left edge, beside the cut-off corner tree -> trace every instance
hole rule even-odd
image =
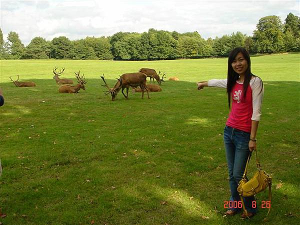
[[[10,31],[7,36],[7,50],[13,59],[20,59],[24,52],[24,44],[22,44],[18,34]]]

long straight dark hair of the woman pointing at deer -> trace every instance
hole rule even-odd
[[[235,84],[236,80],[239,77],[238,73],[233,70],[231,63],[233,62],[234,58],[236,57],[236,55],[239,52],[242,53],[243,57],[246,59],[247,64],[248,64],[248,67],[245,71],[244,80],[243,80],[243,98],[244,99],[246,97],[246,92],[247,92],[247,89],[248,89],[248,86],[250,83],[251,76],[255,76],[253,73],[251,73],[251,60],[250,60],[250,55],[248,54],[247,50],[244,49],[243,47],[236,47],[233,50],[231,50],[231,52],[229,53],[229,56],[228,56],[228,70],[227,70],[227,95],[228,95],[229,108],[230,108],[230,100],[231,100],[231,90],[232,90],[232,87]]]

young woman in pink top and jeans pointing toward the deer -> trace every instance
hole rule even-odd
[[[250,56],[242,48],[234,48],[228,56],[227,79],[211,79],[198,82],[198,89],[215,86],[227,89],[228,106],[231,109],[224,128],[224,145],[229,172],[230,201],[239,201],[238,182],[244,172],[248,155],[256,150],[256,132],[260,119],[263,84],[251,73]],[[254,196],[244,197],[248,217],[256,213],[252,207]],[[241,208],[229,208],[225,214],[234,215]],[[241,214],[246,218],[246,214]]]

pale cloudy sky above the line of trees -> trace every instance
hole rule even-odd
[[[0,0],[0,28],[23,44],[33,37],[111,36],[116,32],[157,30],[221,37],[240,31],[252,35],[258,20],[289,12],[299,16],[299,0]]]

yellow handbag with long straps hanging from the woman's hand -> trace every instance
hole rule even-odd
[[[257,171],[255,172],[255,174],[253,175],[253,177],[251,179],[249,179],[249,180],[246,179],[247,167],[248,167],[249,158],[250,158],[250,155],[249,155],[247,162],[246,162],[244,173],[243,173],[241,180],[239,181],[238,186],[237,186],[237,191],[239,193],[242,207],[243,207],[243,210],[246,215],[248,215],[248,212],[245,208],[242,197],[249,197],[256,193],[259,193],[260,191],[263,191],[267,186],[269,189],[269,192],[268,192],[269,202],[271,201],[271,197],[272,197],[272,193],[271,193],[272,177],[269,174],[267,174],[265,171],[262,171],[260,163],[257,159],[257,150],[255,150],[255,155],[256,155]],[[270,212],[270,209],[271,208],[269,207],[266,215],[268,215],[268,213]]]

